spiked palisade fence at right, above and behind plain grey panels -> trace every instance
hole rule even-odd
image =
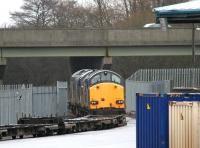
[[[148,82],[172,80],[172,87],[200,87],[200,68],[141,69],[128,79]]]

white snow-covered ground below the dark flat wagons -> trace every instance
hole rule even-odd
[[[0,141],[0,148],[136,148],[136,121],[115,129]]]

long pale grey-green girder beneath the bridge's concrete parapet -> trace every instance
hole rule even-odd
[[[104,57],[104,56],[179,56],[192,55],[192,46],[118,47],[16,47],[0,48],[0,57]],[[196,55],[200,54],[199,46]]]

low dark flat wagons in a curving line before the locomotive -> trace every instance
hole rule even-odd
[[[126,125],[125,115],[79,118],[21,118],[16,125],[0,126],[0,139],[16,139],[27,136],[43,137],[85,131],[103,130]]]

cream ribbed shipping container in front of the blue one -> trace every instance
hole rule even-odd
[[[199,102],[169,103],[169,148],[199,148]]]

